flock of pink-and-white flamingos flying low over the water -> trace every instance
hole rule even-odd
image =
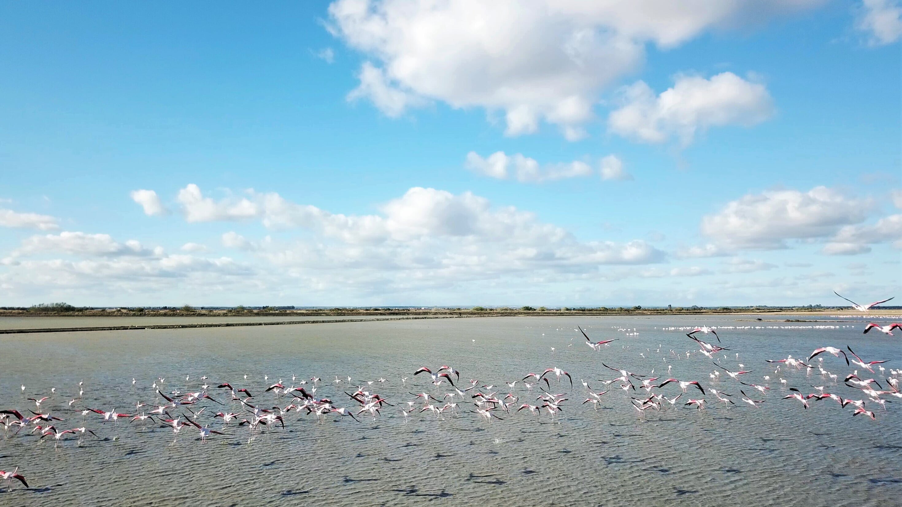
[[[869,305],[859,305],[851,301],[850,303],[855,309],[867,312],[871,307],[886,303],[890,299],[892,298]],[[869,323],[864,332],[879,330],[891,336],[892,331],[898,328],[902,328],[902,323],[895,322],[883,326]],[[610,347],[612,342],[617,340],[593,341],[581,327],[577,327],[576,330],[584,337],[586,345],[596,352]],[[709,334],[713,337],[707,339],[711,340],[710,342],[700,338]],[[703,360],[711,360],[714,369],[709,378],[704,380],[705,385],[699,379],[670,376],[673,364],[667,366],[665,378],[654,376],[654,369],[650,373],[640,374],[621,367],[609,366],[603,361],[601,366],[614,372],[615,376],[598,381],[603,385],[602,390],[597,390],[582,380],[582,391],[578,388],[574,390],[571,374],[558,367],[548,367],[540,373],[529,372],[503,385],[490,385],[476,379],[461,380],[461,372],[452,366],[425,366],[398,380],[400,389],[410,393],[408,399],[404,399],[406,395],[383,396],[376,393],[377,389],[389,382],[386,378],[354,383],[351,376],[341,378],[336,376],[331,382],[323,382],[316,376],[308,379],[291,376],[290,383],[280,379],[270,384],[269,376],[262,376],[262,385],[252,385],[253,381],[249,381],[246,375],[241,379],[241,383],[238,379],[212,383],[208,382],[207,376],[201,376],[199,382],[195,381],[194,384],[191,384],[191,376],[185,376],[184,385],[197,385],[197,390],[181,392],[170,387],[170,382],[166,378],[158,377],[150,386],[149,394],[153,400],[149,403],[143,401],[131,403],[133,410],[124,412],[120,412],[117,408],[111,410],[98,408],[87,403],[84,382],[78,383],[78,395],[68,400],[61,397],[56,388],[51,388],[50,394],[26,397],[28,389],[22,385],[23,402],[28,403],[28,408],[22,411],[13,408],[0,410],[0,424],[5,430],[5,439],[35,438],[41,441],[52,439],[56,449],[69,439],[76,439],[78,447],[86,438],[105,439],[97,432],[108,425],[113,425],[114,431],[117,432],[116,429],[124,424],[132,426],[135,423],[157,425],[170,430],[173,435],[171,445],[178,443],[182,430],[194,431],[201,443],[211,438],[235,437],[242,431],[244,432],[242,438],[246,438],[250,444],[258,434],[283,430],[291,413],[313,415],[318,421],[325,421],[329,416],[360,421],[358,418],[367,417],[375,420],[382,416],[382,412],[392,411],[397,416],[402,416],[406,422],[410,417],[433,417],[436,420],[444,420],[446,417],[462,417],[463,412],[472,412],[491,424],[492,420],[505,420],[517,416],[519,412],[528,411],[528,416],[535,418],[547,413],[550,421],[554,422],[556,416],[568,405],[590,404],[594,410],[598,410],[605,400],[610,398],[605,394],[616,388],[623,391],[629,404],[640,417],[648,411],[669,410],[679,405],[694,407],[699,411],[704,410],[709,402],[735,405],[733,400],[749,404],[753,408],[761,408],[762,403],[770,403],[767,397],[771,391],[786,390],[780,393],[783,395],[779,399],[795,400],[804,409],[811,403],[829,399],[835,401],[841,409],[850,407],[852,416],[863,415],[876,421],[877,415],[872,408],[874,405],[886,410],[886,403],[891,403],[889,398],[902,398],[902,392],[899,391],[902,369],[883,367],[883,364],[888,362],[884,359],[865,360],[848,346],[845,349],[825,346],[813,350],[807,358],[787,356],[768,359],[767,363],[776,365],[771,366],[775,368],[773,375],[776,378],[766,375],[758,381],[761,384],[756,384],[751,380],[752,371],[744,369],[745,366],[738,362],[739,353],[723,347],[721,337],[715,328],[697,327],[686,333],[686,337],[692,340],[698,349],[685,353],[670,350],[670,358],[664,358],[665,364],[668,359],[682,359],[684,355],[686,359],[697,355],[706,358]],[[716,345],[713,343],[715,340]],[[649,356],[650,352],[649,349]],[[660,352],[660,347],[657,352]],[[738,364],[735,371],[731,369],[732,367],[721,364],[721,356],[723,360],[729,359],[725,352],[732,352],[735,355]],[[824,368],[824,358],[830,356],[839,358],[838,360],[844,361],[847,367],[854,366],[856,369],[842,375],[840,380],[839,374],[833,374]],[[642,357],[645,357],[644,354]],[[787,385],[787,379],[779,376],[781,368],[784,372],[805,370],[805,378],[809,379],[808,384],[811,384],[811,378],[821,376],[826,385],[813,386],[815,392],[805,393],[797,387]],[[870,375],[882,376],[883,384],[877,378],[862,378]],[[722,376],[725,384],[721,383]],[[423,391],[420,393],[410,391],[424,377],[428,385],[424,387],[420,383],[418,387]],[[729,381],[726,380],[727,377]],[[776,382],[780,386],[769,386]],[[133,378],[132,385],[136,389],[137,383],[138,380]],[[333,391],[333,394],[323,395],[325,388]],[[846,393],[853,394],[838,394],[836,388],[842,388]],[[263,392],[255,396],[252,389]],[[689,391],[690,389],[692,391]],[[726,389],[733,390],[733,394],[726,393]],[[554,391],[563,392],[554,393]],[[752,398],[747,391],[759,399]],[[571,399],[571,396],[575,398]],[[73,424],[72,420],[79,422]],[[76,424],[78,427],[72,428]],[[215,426],[215,429],[211,429],[210,426]],[[28,487],[26,478],[19,473],[18,467],[12,471],[0,470],[0,479],[5,481],[7,490],[12,488],[14,480]]]

